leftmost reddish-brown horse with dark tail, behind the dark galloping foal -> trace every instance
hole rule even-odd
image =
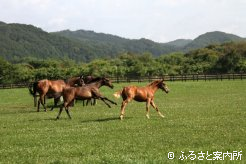
[[[48,80],[48,79],[43,79],[37,82],[33,83],[33,90],[31,87],[29,87],[29,92],[33,95],[36,96],[36,93],[38,92],[40,97],[38,100],[38,107],[37,107],[37,112],[39,112],[40,108],[40,103],[44,107],[44,111],[46,111],[46,106],[45,106],[45,96],[48,96],[49,98],[54,98],[54,106],[52,106],[51,110],[55,106],[57,106],[57,103],[62,96],[63,89],[67,87],[72,87],[72,86],[82,86],[84,84],[82,76],[80,77],[72,77],[67,80]]]

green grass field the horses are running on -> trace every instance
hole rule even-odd
[[[220,163],[246,163],[246,81],[168,82],[170,93],[155,95],[165,118],[151,108],[148,120],[145,103],[131,102],[120,121],[112,94],[133,84],[146,85],[103,87],[117,106],[78,102],[72,120],[63,112],[57,121],[57,108],[36,112],[28,89],[0,90],[0,163],[217,163],[206,157],[240,151],[240,161]]]

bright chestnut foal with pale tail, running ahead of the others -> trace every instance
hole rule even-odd
[[[148,119],[150,118],[149,117],[150,105],[158,112],[158,114],[161,117],[164,117],[154,103],[154,94],[158,89],[162,89],[166,93],[169,92],[167,84],[164,83],[164,80],[155,80],[145,87],[127,86],[124,87],[122,90],[115,92],[113,95],[116,98],[119,98],[121,96],[123,99],[121,105],[120,119],[123,120],[126,105],[132,100],[138,102],[146,102],[146,111],[147,111],[146,117]]]

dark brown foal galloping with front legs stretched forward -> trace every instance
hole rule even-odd
[[[94,80],[93,80],[94,81]],[[70,87],[65,88],[63,91],[63,99],[64,103],[60,107],[60,111],[56,117],[56,119],[60,118],[60,115],[62,113],[63,108],[65,108],[66,113],[68,117],[71,119],[71,116],[69,114],[69,106],[73,103],[74,99],[79,100],[88,100],[88,99],[100,99],[102,100],[109,108],[111,106],[106,102],[106,100],[114,105],[117,105],[117,103],[113,102],[112,100],[108,99],[107,97],[103,96],[99,92],[99,88],[101,86],[108,86],[113,89],[113,84],[111,80],[107,78],[98,78],[98,80],[95,80],[95,82],[87,85],[83,85],[81,87]]]

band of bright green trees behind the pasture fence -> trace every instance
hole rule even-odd
[[[89,63],[78,63],[69,58],[23,58],[10,63],[0,58],[0,84],[66,79],[77,75],[136,77],[220,73],[246,73],[246,42],[214,44],[188,53],[159,57],[149,52],[127,52],[116,58],[100,58]]]

